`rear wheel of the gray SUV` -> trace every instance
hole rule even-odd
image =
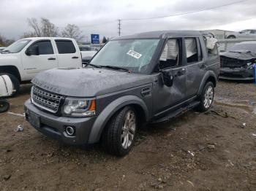
[[[200,95],[200,104],[197,106],[197,110],[200,112],[206,112],[214,101],[214,84],[207,82]]]

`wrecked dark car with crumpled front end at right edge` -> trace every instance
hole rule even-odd
[[[253,80],[256,41],[240,42],[220,53],[219,79]]]

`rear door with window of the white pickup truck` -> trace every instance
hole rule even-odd
[[[69,39],[56,39],[57,57],[60,68],[72,68],[82,66],[80,50]]]

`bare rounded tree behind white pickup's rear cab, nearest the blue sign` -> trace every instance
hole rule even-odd
[[[81,42],[83,40],[82,31],[76,25],[67,24],[67,26],[61,31],[61,36],[73,38],[77,42]]]

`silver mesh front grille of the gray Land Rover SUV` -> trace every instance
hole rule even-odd
[[[37,86],[32,87],[32,103],[41,109],[45,109],[48,112],[56,113],[59,111],[61,95],[50,93],[46,90],[42,90]]]

